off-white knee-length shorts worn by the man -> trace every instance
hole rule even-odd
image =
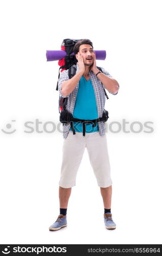
[[[107,151],[106,134],[99,132],[75,133],[69,131],[63,143],[63,159],[59,186],[69,188],[75,186],[77,170],[87,147],[88,155],[99,187],[112,185],[109,154]]]

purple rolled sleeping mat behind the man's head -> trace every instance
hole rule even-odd
[[[46,51],[46,58],[47,61],[52,60],[60,60],[66,56],[66,52],[63,50],[60,51]],[[106,51],[105,50],[95,50],[96,59],[98,60],[104,60],[106,58]],[[71,53],[71,55],[74,55],[74,53]]]

